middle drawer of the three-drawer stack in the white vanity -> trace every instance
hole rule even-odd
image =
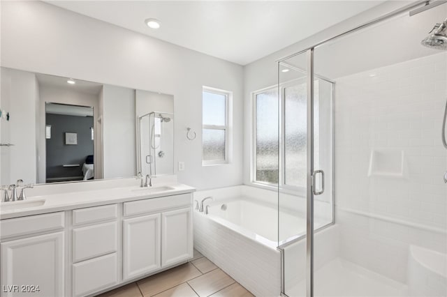
[[[117,251],[117,222],[73,229],[73,263]]]

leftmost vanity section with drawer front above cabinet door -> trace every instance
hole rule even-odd
[[[64,296],[64,213],[0,221],[1,296]]]

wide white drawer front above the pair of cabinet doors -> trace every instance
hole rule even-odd
[[[166,208],[177,208],[191,205],[190,193],[152,199],[144,199],[124,203],[124,216],[153,213]]]

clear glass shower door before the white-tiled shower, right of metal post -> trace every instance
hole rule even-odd
[[[447,52],[421,45],[446,16],[447,4],[405,11],[314,50],[314,81],[334,86],[337,201],[336,224],[314,232],[314,296],[447,294],[446,278],[427,272],[441,266],[426,261],[444,261],[445,273]],[[320,107],[321,91],[315,83]]]

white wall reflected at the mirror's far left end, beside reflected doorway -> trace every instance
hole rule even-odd
[[[38,85],[34,73],[1,68],[1,109],[10,120],[0,119],[1,185],[36,183],[36,103]],[[26,168],[26,170],[24,170]]]

